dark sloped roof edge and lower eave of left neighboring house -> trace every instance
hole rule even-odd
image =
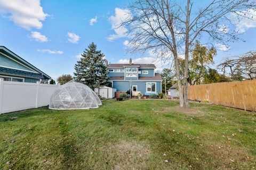
[[[0,46],[0,52],[10,56],[10,58],[12,58],[15,61],[18,61],[20,63],[22,63],[23,65],[35,70],[37,73],[33,73],[33,72],[29,72],[29,71],[21,71],[21,70],[16,70],[16,69],[10,69],[10,68],[4,68],[1,67],[0,70],[0,74],[13,74],[13,76],[24,76],[24,77],[29,77],[29,78],[41,78],[41,79],[51,79],[51,77],[49,75],[46,75],[43,71],[39,70],[38,68],[36,68],[35,66],[33,66],[32,64],[30,64],[29,62],[27,62],[26,60],[22,59],[19,55],[15,54],[14,52],[12,52],[11,50],[9,50],[8,48],[6,48],[5,46]]]

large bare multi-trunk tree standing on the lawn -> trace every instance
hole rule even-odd
[[[126,26],[132,52],[153,49],[163,62],[173,61],[177,77],[180,107],[189,107],[188,61],[195,41],[209,37],[208,42],[226,44],[238,39],[237,31],[225,29],[230,23],[230,14],[247,17],[254,10],[254,2],[247,0],[212,0],[204,7],[193,6],[190,0],[134,0],[129,6],[130,14],[121,26]],[[182,83],[179,72],[179,55],[185,55],[185,70]]]

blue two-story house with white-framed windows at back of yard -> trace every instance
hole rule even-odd
[[[107,64],[109,81],[117,92],[162,93],[162,78],[155,73],[155,64]]]

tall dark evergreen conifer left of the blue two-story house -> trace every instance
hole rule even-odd
[[[74,79],[90,88],[108,85],[107,66],[103,62],[104,54],[97,51],[97,45],[91,43],[75,64]]]

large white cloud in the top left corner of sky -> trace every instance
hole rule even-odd
[[[30,30],[43,27],[42,21],[48,16],[39,0],[0,0],[0,13],[12,20],[15,25]]]

